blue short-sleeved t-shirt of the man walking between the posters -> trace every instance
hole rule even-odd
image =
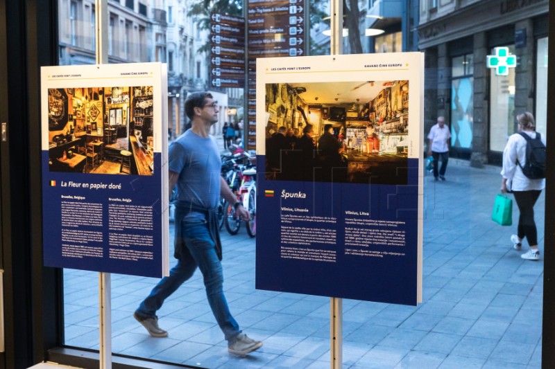
[[[221,158],[215,138],[203,138],[188,129],[170,145],[168,156],[169,170],[179,173],[178,203],[216,208],[220,199]],[[187,217],[199,215],[191,213]]]

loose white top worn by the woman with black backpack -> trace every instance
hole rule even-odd
[[[536,138],[534,131],[522,131],[530,138]],[[545,138],[542,136],[541,140],[545,145]],[[501,175],[507,179],[507,190],[511,191],[528,191],[528,190],[543,190],[545,188],[545,179],[529,179],[522,173],[522,169],[516,163],[524,165],[526,163],[526,139],[520,134],[511,134],[505,150],[503,151],[503,169]]]

